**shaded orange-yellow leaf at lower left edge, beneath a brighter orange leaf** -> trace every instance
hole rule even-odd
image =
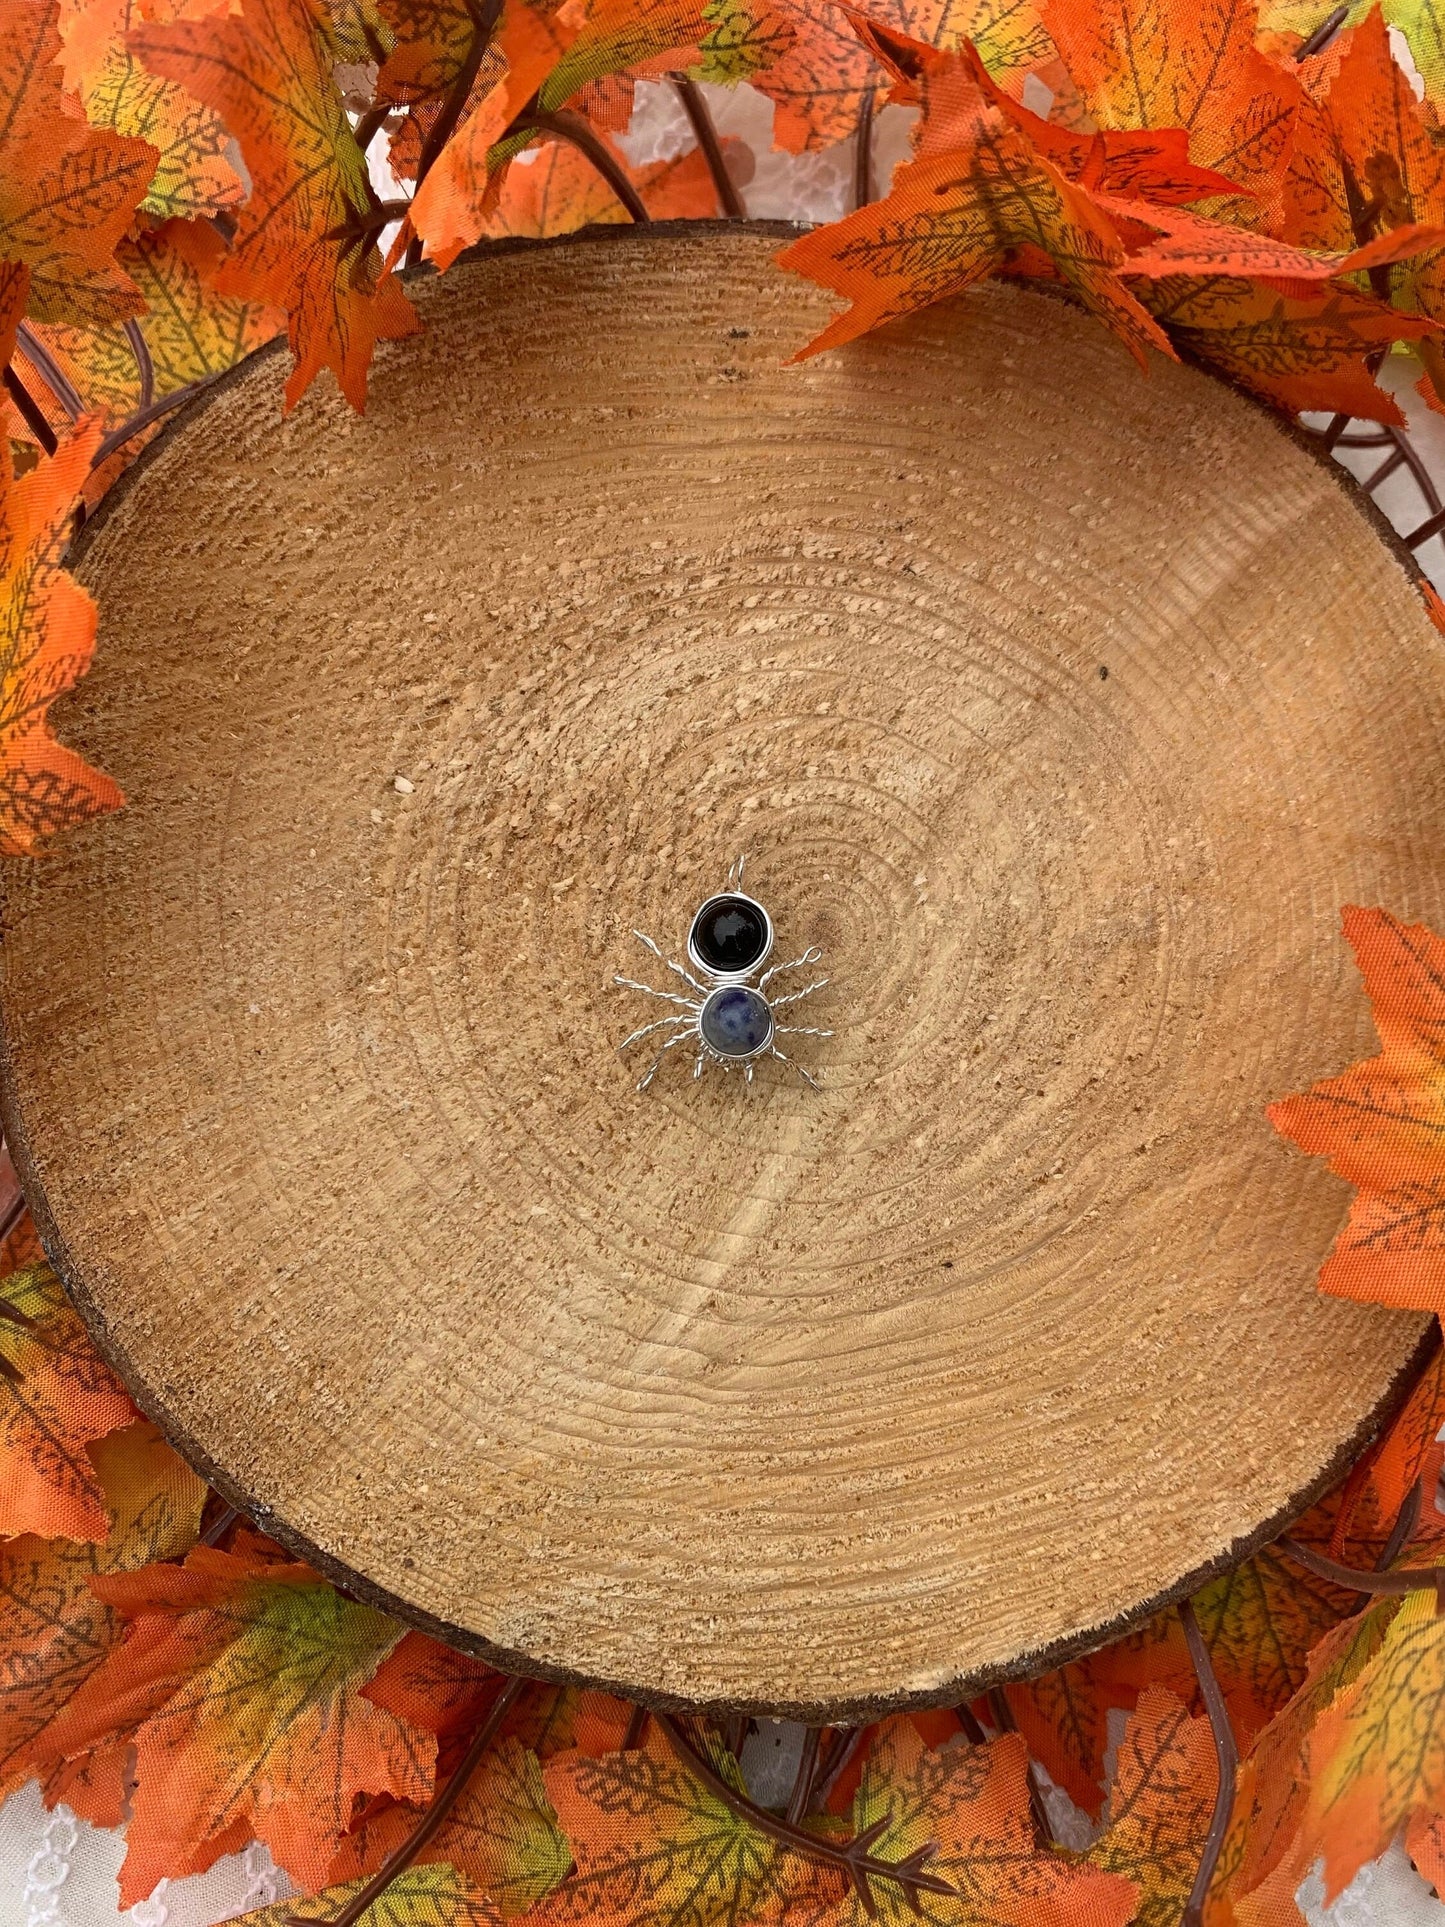
[[[27,1532],[0,1545],[0,1788],[31,1775],[33,1740],[121,1636],[119,1615],[91,1580],[179,1559],[200,1528],[206,1488],[152,1424],[137,1420],[87,1451],[106,1507],[104,1538]]]

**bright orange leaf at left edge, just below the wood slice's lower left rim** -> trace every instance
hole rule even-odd
[[[48,1264],[0,1280],[0,1534],[102,1540],[85,1447],[135,1418]]]

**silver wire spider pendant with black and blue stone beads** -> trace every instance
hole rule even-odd
[[[653,938],[644,931],[632,933],[645,950],[651,950],[659,964],[665,964],[696,992],[696,996],[678,996],[674,990],[657,990],[649,983],[638,983],[636,977],[613,977],[613,983],[624,990],[640,990],[644,996],[682,1006],[669,1017],[657,1017],[655,1023],[640,1025],[617,1046],[618,1050],[628,1050],[632,1044],[642,1043],[644,1037],[655,1037],[659,1031],[672,1033],[638,1079],[638,1091],[647,1089],[667,1052],[682,1044],[696,1052],[694,1077],[701,1077],[711,1062],[721,1064],[728,1071],[742,1069],[748,1083],[751,1083],[757,1064],[763,1058],[776,1058],[778,1064],[796,1069],[803,1083],[815,1091],[819,1089],[817,1077],[809,1075],[794,1058],[784,1056],[776,1041],[778,1037],[832,1037],[832,1031],[819,1031],[801,1023],[778,1023],[778,1012],[788,1004],[801,1004],[813,990],[821,990],[828,979],[819,977],[801,990],[788,990],[786,996],[769,996],[767,987],[784,971],[805,969],[809,964],[817,964],[823,952],[817,944],[811,944],[800,958],[794,958],[790,964],[775,964],[773,969],[763,971],[757,983],[751,981],[773,952],[773,919],[757,898],[744,896],[742,865],[744,859],[738,858],[728,873],[726,888],[717,896],[709,896],[694,913],[688,927],[688,964],[692,969],[686,969],[674,958],[663,956]]]

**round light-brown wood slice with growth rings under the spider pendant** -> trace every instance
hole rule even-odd
[[[131,804],[4,877],[6,1123],[141,1403],[457,1644],[848,1717],[1260,1544],[1424,1322],[1322,1299],[1270,1098],[1445,925],[1443,646],[1349,484],[985,287],[786,366],[776,235],[424,283],[364,418],[279,356],[83,545]],[[746,852],[809,1091],[667,1060]],[[801,1054],[801,1052],[800,1052]]]

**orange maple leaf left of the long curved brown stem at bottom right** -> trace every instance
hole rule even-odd
[[[1135,1927],[1175,1927],[1214,1815],[1220,1769],[1206,1719],[1150,1686],[1119,1740],[1108,1827],[1089,1861],[1139,1888]]]

